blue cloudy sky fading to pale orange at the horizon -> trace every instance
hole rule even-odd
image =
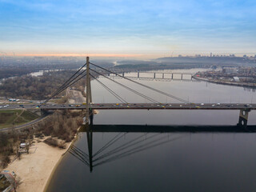
[[[256,2],[0,0],[0,55],[256,54]]]

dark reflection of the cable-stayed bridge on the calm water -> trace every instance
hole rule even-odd
[[[80,162],[90,168],[101,166],[108,162],[125,158],[132,154],[137,154],[143,150],[150,150],[156,146],[162,146],[178,139],[187,137],[190,133],[251,133],[256,132],[256,126],[138,126],[138,125],[90,125],[82,126],[79,132],[86,133],[88,153],[72,144],[68,152]],[[113,138],[95,153],[93,153],[93,133],[115,133]],[[124,143],[116,144],[121,138],[130,133],[144,133],[132,138]],[[147,133],[151,133],[147,135]],[[162,134],[181,133],[181,134]],[[184,134],[188,133],[188,134]],[[111,149],[112,148],[112,149]]]

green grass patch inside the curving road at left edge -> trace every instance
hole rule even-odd
[[[0,129],[10,126],[19,126],[38,118],[27,110],[0,110]]]

